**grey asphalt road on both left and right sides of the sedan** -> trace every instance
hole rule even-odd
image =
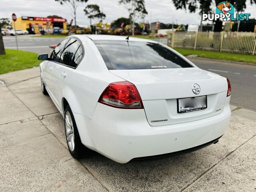
[[[18,36],[20,50],[49,53],[49,45],[62,38]],[[4,36],[5,48],[16,49],[15,37]],[[256,111],[256,66],[190,58],[198,67],[228,77],[232,86],[231,104]]]

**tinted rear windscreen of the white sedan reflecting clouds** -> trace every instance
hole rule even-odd
[[[193,67],[157,43],[120,40],[93,42],[109,70]]]

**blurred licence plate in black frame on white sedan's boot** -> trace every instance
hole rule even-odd
[[[207,96],[177,99],[178,113],[198,111],[207,108]]]

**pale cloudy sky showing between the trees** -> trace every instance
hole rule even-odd
[[[87,4],[100,6],[106,14],[104,22],[111,23],[117,18],[128,17],[129,15],[124,5],[118,4],[118,0],[88,0],[87,3],[80,3],[77,9],[77,24],[80,26],[90,25],[90,20],[83,11]],[[189,13],[186,10],[176,10],[172,0],[145,0],[145,4],[148,11],[148,15],[144,18],[145,22],[200,24],[198,12]],[[250,13],[250,18],[256,18],[256,5],[250,5],[250,0],[246,0],[246,5],[247,8],[244,13]],[[66,4],[61,5],[55,0],[0,0],[0,18],[11,18],[12,13],[15,13],[17,17],[58,15],[66,18],[68,22],[72,19],[69,7]],[[98,20],[95,19],[93,22],[98,22]]]

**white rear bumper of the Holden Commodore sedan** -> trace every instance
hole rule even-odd
[[[222,112],[201,120],[150,126],[143,109],[117,109],[98,103],[92,120],[74,114],[82,143],[119,163],[200,147],[228,126],[230,97]]]

